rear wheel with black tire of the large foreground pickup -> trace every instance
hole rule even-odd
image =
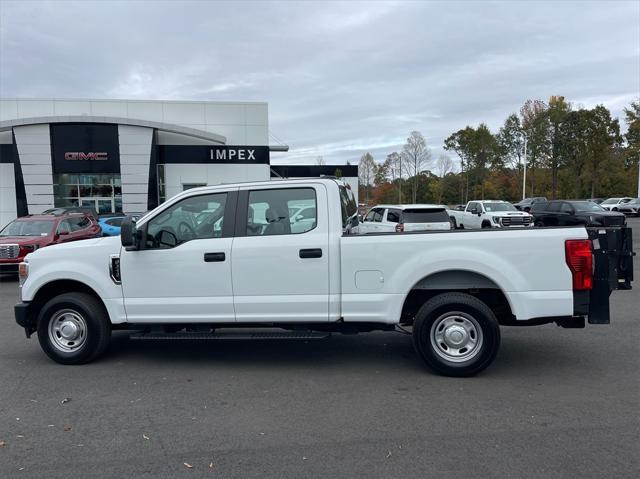
[[[451,326],[439,333],[447,322]],[[469,337],[475,333],[476,343],[469,347],[467,353],[463,352],[465,348],[461,348],[461,355],[454,357],[455,350],[445,351],[446,344],[434,345],[437,335],[446,336],[450,328],[466,330],[465,322],[472,325],[473,332]],[[473,376],[495,359],[500,348],[500,326],[493,311],[478,298],[466,293],[443,293],[424,303],[416,314],[413,345],[420,358],[435,372],[453,377]]]

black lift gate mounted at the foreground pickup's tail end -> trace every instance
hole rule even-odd
[[[631,289],[633,231],[631,228],[587,228],[593,242],[593,288],[589,297],[589,323],[609,323],[609,295]]]

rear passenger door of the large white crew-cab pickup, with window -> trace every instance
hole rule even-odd
[[[316,218],[292,231],[289,209]],[[322,184],[241,188],[231,254],[239,322],[329,319],[329,217]]]

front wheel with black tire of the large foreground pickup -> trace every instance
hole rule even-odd
[[[51,324],[52,321],[56,321],[58,330],[56,325]],[[75,333],[76,337],[63,336],[64,328],[67,332]],[[58,339],[52,339],[53,336]],[[111,322],[107,311],[104,305],[90,294],[61,294],[50,299],[40,310],[40,346],[47,356],[60,364],[84,364],[93,361],[107,349],[110,337]]]

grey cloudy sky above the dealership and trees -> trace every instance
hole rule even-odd
[[[639,1],[0,0],[0,97],[268,101],[274,163],[437,157],[554,94],[640,97]]]

